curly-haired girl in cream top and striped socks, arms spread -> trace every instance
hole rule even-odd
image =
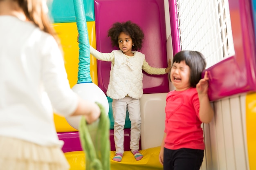
[[[126,109],[131,121],[130,150],[139,161],[143,155],[139,150],[141,134],[141,113],[139,99],[143,94],[142,70],[148,74],[166,74],[171,70],[171,60],[167,68],[153,68],[145,60],[141,50],[144,33],[131,21],[116,22],[108,31],[112,46],[119,47],[111,53],[101,53],[90,46],[90,53],[98,60],[111,62],[110,81],[107,95],[113,99],[112,110],[115,119],[114,139],[116,155],[114,161],[120,162],[124,153],[124,124]]]

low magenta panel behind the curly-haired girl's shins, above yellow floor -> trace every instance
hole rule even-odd
[[[64,141],[63,152],[83,150],[80,143],[79,132],[58,132],[58,138]],[[109,132],[110,149],[115,151],[114,130]],[[139,141],[139,149],[141,144]],[[130,128],[124,129],[124,151],[130,150]]]

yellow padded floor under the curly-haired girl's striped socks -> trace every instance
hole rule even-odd
[[[113,161],[115,151],[110,151],[111,170],[162,170],[163,166],[159,163],[160,146],[141,150],[144,156],[136,161],[132,152],[124,151],[121,162]],[[65,157],[70,163],[70,170],[85,170],[85,153],[83,151],[66,152]]]

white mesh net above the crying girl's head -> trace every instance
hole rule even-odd
[[[181,50],[200,51],[207,68],[234,55],[228,0],[177,0]]]

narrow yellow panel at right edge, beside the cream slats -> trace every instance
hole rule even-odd
[[[249,169],[256,170],[256,93],[246,96],[246,129]]]

